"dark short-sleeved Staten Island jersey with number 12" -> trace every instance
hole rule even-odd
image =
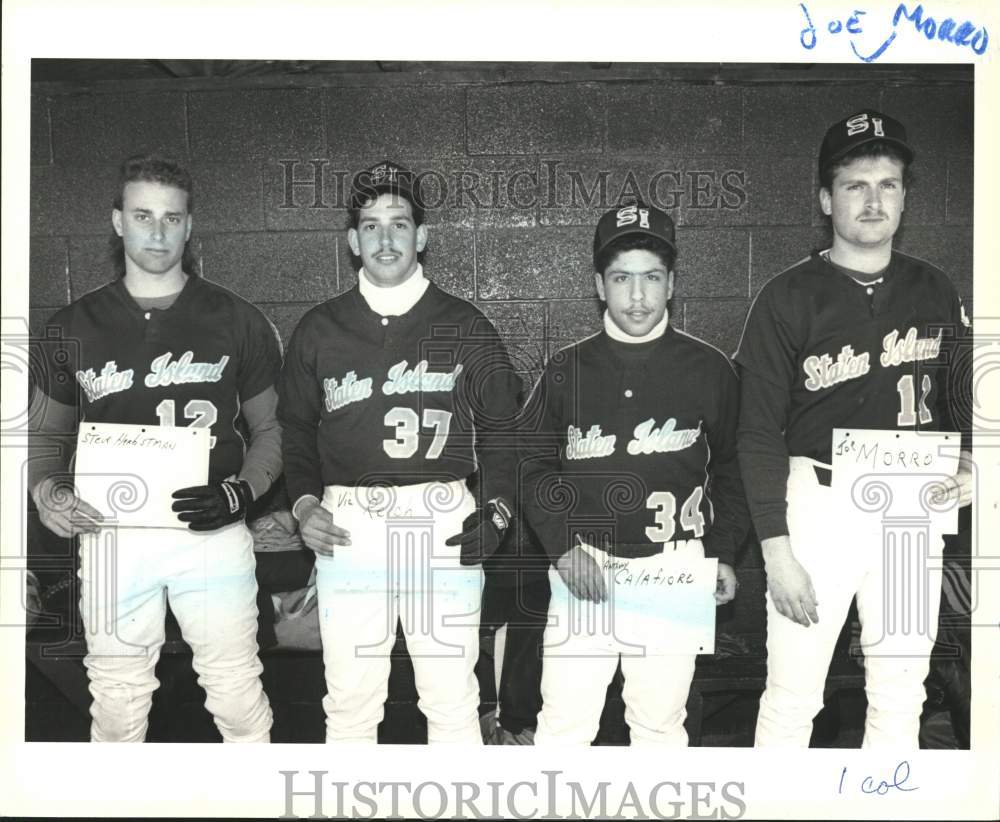
[[[116,280],[56,312],[36,386],[91,422],[211,429],[209,483],[239,472],[240,402],[273,386],[281,343],[233,292],[188,277],[166,309],[141,308]]]

